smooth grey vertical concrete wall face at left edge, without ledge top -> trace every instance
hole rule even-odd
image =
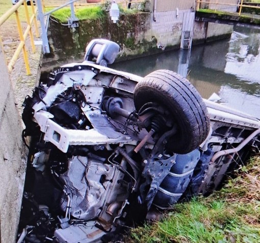
[[[16,242],[26,160],[22,126],[1,45],[0,67],[0,235],[2,243],[13,243]]]

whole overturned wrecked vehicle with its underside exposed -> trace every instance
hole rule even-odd
[[[25,98],[18,242],[116,240],[219,189],[258,150],[257,118],[203,100],[172,71],[142,78],[107,68],[118,49],[93,40],[83,63],[53,71]]]

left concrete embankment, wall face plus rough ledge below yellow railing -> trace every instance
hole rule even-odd
[[[42,48],[29,50],[31,75],[26,75],[23,58],[8,73],[4,51],[0,45],[2,86],[0,92],[0,242],[16,242],[23,194],[28,150],[22,141],[22,102],[40,78]]]

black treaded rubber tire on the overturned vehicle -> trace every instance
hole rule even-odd
[[[158,70],[145,76],[134,90],[136,110],[148,102],[167,107],[175,120],[177,133],[166,144],[173,153],[189,153],[209,134],[209,113],[201,96],[187,79],[177,73]]]

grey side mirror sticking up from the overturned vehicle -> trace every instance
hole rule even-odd
[[[94,39],[86,47],[85,60],[107,67],[114,63],[120,47],[117,43],[105,39]]]

